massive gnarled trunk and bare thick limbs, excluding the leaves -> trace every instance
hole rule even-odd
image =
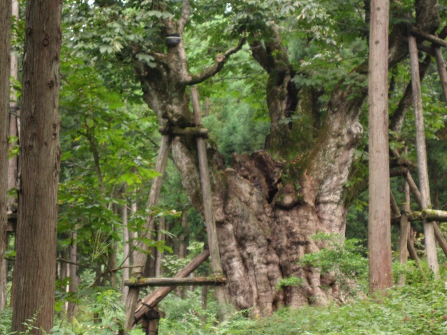
[[[430,6],[437,4],[418,1],[419,12],[430,8],[423,6],[425,2],[430,2]],[[188,13],[189,1],[184,1],[180,20],[165,20],[165,33],[182,34]],[[420,17],[425,14],[418,14],[418,22],[424,22]],[[420,24],[420,29],[432,27],[427,29]],[[404,33],[403,27],[395,27],[390,35],[390,66],[406,56]],[[269,150],[235,156],[233,167],[226,168],[219,152],[209,148],[212,200],[228,292],[237,308],[252,308],[251,313],[262,315],[270,315],[279,306],[326,304],[339,295],[334,278],[297,262],[323,246],[312,239],[313,234],[344,234],[344,185],[362,137],[358,117],[367,95],[364,85],[340,80],[324,119],[320,119],[314,92],[298,92],[295,88],[291,82],[295,73],[286,49],[278,32],[272,29],[271,34],[277,38],[250,39],[254,58],[269,75]],[[192,125],[185,95],[187,86],[217,73],[241,43],[242,40],[237,47],[219,54],[214,66],[199,75],[189,73],[183,43],[168,47],[167,53],[149,52],[157,64],[154,68],[138,62],[137,74],[145,101],[157,112],[163,126]],[[353,73],[358,80],[365,80],[367,65]],[[310,135],[303,135],[299,125],[284,121],[300,112],[308,113],[314,120],[316,130]],[[175,137],[172,151],[189,198],[201,211],[196,142],[193,138]],[[288,276],[305,280],[300,287],[276,288],[278,281]]]

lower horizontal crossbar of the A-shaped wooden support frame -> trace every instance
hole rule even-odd
[[[225,277],[194,277],[194,278],[138,278],[137,281],[124,281],[126,286],[203,286],[223,285]]]

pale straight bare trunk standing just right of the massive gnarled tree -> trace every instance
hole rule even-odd
[[[369,33],[369,290],[393,285],[388,154],[389,0],[371,1]]]

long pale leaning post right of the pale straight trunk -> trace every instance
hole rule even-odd
[[[422,109],[422,95],[420,92],[418,47],[416,46],[416,38],[412,36],[411,33],[409,33],[408,39],[411,66],[411,87],[413,89],[414,119],[416,128],[416,151],[418,153],[418,175],[420,185],[419,189],[422,202],[421,207],[425,209],[430,208],[431,203],[427,169],[427,149],[425,147],[425,128]],[[435,276],[438,276],[439,265],[436,253],[436,241],[434,239],[433,223],[426,220],[424,220],[423,223],[428,267],[432,269]]]

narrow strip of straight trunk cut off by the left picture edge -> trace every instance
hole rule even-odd
[[[0,310],[6,304],[6,273],[4,271],[6,216],[8,191],[8,107],[9,107],[9,67],[10,67],[10,27],[11,3],[0,2]]]

